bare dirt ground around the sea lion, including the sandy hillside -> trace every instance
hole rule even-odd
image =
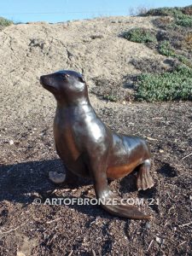
[[[163,65],[166,57],[154,49],[119,37],[134,26],[153,28],[153,19],[28,24],[0,32],[0,255],[192,255],[191,102],[108,102],[97,97],[94,84],[99,77],[113,80],[126,93],[125,76],[139,73],[133,59]],[[110,187],[122,198],[143,199],[151,222],[116,218],[99,206],[44,203],[95,198],[90,180],[72,188],[48,178],[62,166],[53,141],[55,99],[38,79],[61,68],[84,73],[90,102],[111,129],[148,141],[154,188],[138,192],[136,173]]]

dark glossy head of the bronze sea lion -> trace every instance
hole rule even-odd
[[[71,70],[61,70],[41,76],[40,83],[60,102],[73,102],[88,97],[83,76]]]

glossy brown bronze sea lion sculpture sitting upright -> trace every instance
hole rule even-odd
[[[40,83],[56,99],[54,137],[67,177],[91,177],[97,199],[112,201],[115,197],[108,179],[125,177],[138,168],[137,188],[154,186],[149,173],[150,151],[143,138],[111,131],[90,105],[87,85],[80,73],[63,70],[41,76]],[[137,207],[128,204],[102,203],[108,212],[125,218],[149,219]]]

